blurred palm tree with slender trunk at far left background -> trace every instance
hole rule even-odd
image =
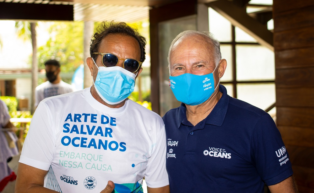
[[[38,61],[37,61],[37,43],[36,43],[36,22],[19,21],[15,23],[17,34],[25,41],[31,40],[33,47],[32,56],[32,99],[30,102],[30,112],[34,114],[35,111],[35,88],[38,84]]]

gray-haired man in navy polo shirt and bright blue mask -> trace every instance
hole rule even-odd
[[[271,116],[227,95],[227,67],[209,32],[171,43],[169,85],[180,107],[168,111],[166,168],[171,193],[297,192],[289,155]]]

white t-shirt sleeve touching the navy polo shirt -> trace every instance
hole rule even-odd
[[[169,185],[166,170],[166,133],[165,125],[156,133],[156,144],[148,160],[145,171],[145,181],[150,188],[159,188]]]

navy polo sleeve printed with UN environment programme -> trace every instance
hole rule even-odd
[[[259,175],[267,185],[278,184],[293,174],[289,154],[269,114],[263,115],[255,126],[251,156]]]

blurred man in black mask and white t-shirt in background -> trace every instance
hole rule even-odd
[[[63,82],[60,77],[60,63],[57,60],[51,59],[45,62],[47,81],[40,84],[35,89],[35,106],[39,102],[51,96],[66,94],[74,91],[72,85]]]

